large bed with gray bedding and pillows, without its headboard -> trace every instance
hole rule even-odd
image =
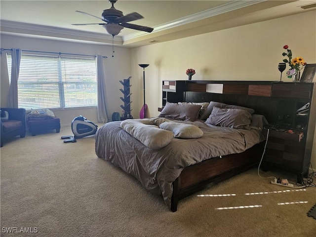
[[[95,152],[176,211],[178,200],[259,163],[267,120],[254,112],[215,101],[167,103],[157,118],[101,126]]]

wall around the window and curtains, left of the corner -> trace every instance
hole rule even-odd
[[[103,67],[105,72],[105,81],[107,86],[108,112],[111,118],[113,112],[120,112],[119,105],[122,104],[119,99],[122,94],[119,89],[122,88],[119,80],[127,79],[130,75],[130,49],[115,47],[115,56],[112,57],[112,46],[66,42],[61,40],[44,40],[33,39],[17,36],[1,35],[2,48],[21,48],[22,50],[65,52],[87,55],[105,55]],[[9,79],[7,73],[7,64],[5,51],[2,52],[1,58],[1,107],[7,106]],[[67,109],[53,110],[54,114],[61,119],[62,125],[69,125],[73,118],[82,115],[91,121],[97,121],[97,109]]]

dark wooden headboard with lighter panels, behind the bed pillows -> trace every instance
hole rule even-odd
[[[277,81],[172,81],[163,87],[163,102],[222,102],[252,108],[269,123],[295,126],[296,110],[312,102],[314,83]],[[164,83],[164,81],[163,81]],[[164,84],[163,84],[164,86]],[[165,89],[164,89],[165,88]],[[316,96],[314,96],[315,98]],[[165,100],[165,101],[164,101]],[[314,102],[315,103],[315,102]],[[164,104],[162,104],[164,105]]]

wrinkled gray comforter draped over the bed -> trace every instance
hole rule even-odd
[[[154,150],[124,131],[120,123],[113,121],[99,128],[95,134],[96,155],[136,177],[152,193],[162,194],[169,208],[172,182],[183,168],[205,159],[241,153],[263,141],[258,127],[234,129],[195,121],[186,123],[199,127],[202,137],[173,138],[167,146]]]

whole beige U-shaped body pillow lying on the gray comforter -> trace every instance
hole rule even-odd
[[[195,125],[172,122],[166,118],[127,119],[120,127],[151,149],[167,146],[173,137],[199,138],[203,131]]]

